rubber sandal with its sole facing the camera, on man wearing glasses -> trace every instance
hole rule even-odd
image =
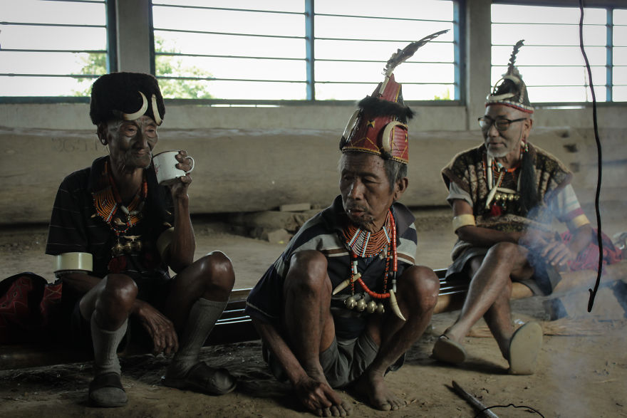
[[[528,322],[516,330],[509,340],[509,374],[533,375],[542,347],[542,327]]]

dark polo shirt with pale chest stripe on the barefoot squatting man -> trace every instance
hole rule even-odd
[[[398,277],[415,262],[417,234],[414,217],[402,204],[392,205],[392,213],[397,226]],[[342,236],[343,225],[348,218],[342,207],[342,199],[336,197],[331,207],[324,209],[306,221],[287,248],[261,277],[249,294],[246,313],[263,322],[280,327],[284,314],[283,283],[289,270],[291,256],[299,251],[317,250],[327,258],[327,273],[333,288],[348,278],[351,258]],[[357,269],[368,288],[382,291],[383,273],[387,247],[380,254],[369,258],[358,258]],[[356,286],[356,292],[361,291]],[[339,339],[355,338],[366,327],[366,315],[343,308],[341,301],[351,294],[348,286],[333,296],[331,312]],[[340,302],[340,303],[336,303]]]

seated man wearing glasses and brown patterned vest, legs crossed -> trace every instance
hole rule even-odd
[[[466,352],[460,341],[483,316],[509,361],[509,372],[530,375],[542,330],[529,322],[514,332],[512,280],[534,294],[551,293],[559,271],[586,248],[592,231],[570,184],[572,174],[528,142],[534,109],[514,66],[520,46],[522,41],[514,46],[507,73],[488,95],[479,118],[484,143],[456,155],[442,169],[459,238],[447,278],[470,280],[470,286],[460,317],[438,338],[433,357],[463,362]],[[566,222],[568,243],[551,230],[554,216]]]

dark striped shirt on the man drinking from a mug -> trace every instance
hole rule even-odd
[[[111,247],[116,242],[110,226],[95,214],[92,192],[98,184],[108,157],[94,160],[91,167],[69,174],[59,186],[48,230],[46,254],[56,256],[69,252],[93,255],[93,276],[109,273]],[[169,278],[167,266],[160,259],[155,243],[172,223],[172,199],[165,188],[157,185],[155,171],[147,169],[148,193],[143,209],[145,217],[124,235],[142,241],[140,254],[124,256],[123,273],[133,278]],[[168,208],[167,211],[165,208]]]

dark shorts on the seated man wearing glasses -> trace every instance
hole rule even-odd
[[[462,251],[446,271],[448,281],[470,281],[469,261],[475,257],[484,257],[489,249],[483,247],[470,247]],[[561,281],[559,272],[552,266],[546,265],[544,258],[529,251],[527,257],[529,264],[534,269],[532,278],[518,281],[532,290],[534,295],[546,296],[553,293],[557,283]]]

